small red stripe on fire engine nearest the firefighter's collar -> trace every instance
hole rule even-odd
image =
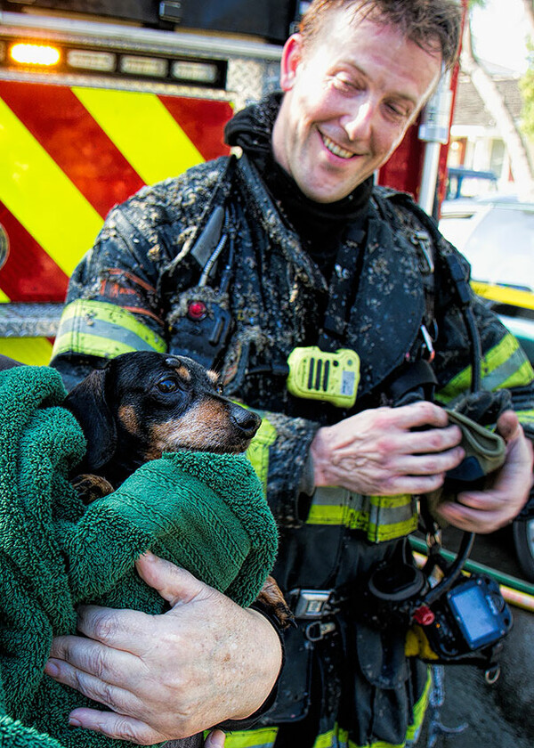
[[[210,102],[206,99],[186,99],[178,96],[159,98],[198,148],[203,159],[208,161],[230,153],[230,149],[223,142],[224,125],[233,115],[228,102]]]

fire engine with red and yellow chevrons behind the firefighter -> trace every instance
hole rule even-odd
[[[109,208],[227,152],[224,124],[276,88],[308,5],[0,2],[2,354],[49,362],[69,275]],[[377,177],[430,212],[455,89],[453,75]]]

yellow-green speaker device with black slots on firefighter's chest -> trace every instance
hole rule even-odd
[[[352,408],[360,382],[360,356],[350,348],[335,353],[318,346],[294,348],[287,358],[287,390],[295,397]]]

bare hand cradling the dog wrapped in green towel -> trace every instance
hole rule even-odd
[[[154,744],[254,713],[281,663],[271,624],[150,553],[137,570],[171,610],[151,616],[86,606],[78,629],[88,638],[53,641],[46,673],[113,710],[77,709],[71,724]],[[221,748],[223,733],[210,741]]]

